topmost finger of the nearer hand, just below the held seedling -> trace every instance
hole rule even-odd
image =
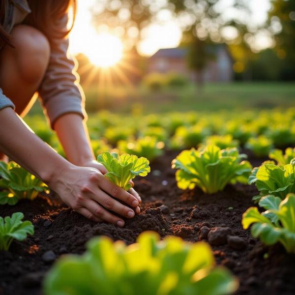
[[[134,195],[126,192],[124,189],[114,184],[106,177],[101,178],[99,187],[107,192],[110,196],[123,201],[125,204],[131,207],[138,207],[139,205],[139,201]]]

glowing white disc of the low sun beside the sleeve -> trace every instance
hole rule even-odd
[[[98,67],[108,68],[117,64],[123,55],[121,40],[109,33],[101,33],[93,36],[92,44],[85,54],[90,62]]]

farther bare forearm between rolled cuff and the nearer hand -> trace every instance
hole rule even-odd
[[[71,163],[84,166],[84,163],[94,159],[86,124],[79,115],[66,114],[58,118],[54,128]]]

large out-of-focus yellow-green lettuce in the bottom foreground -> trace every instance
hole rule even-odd
[[[226,295],[237,280],[222,266],[205,242],[187,243],[176,236],[162,241],[153,232],[137,243],[96,237],[83,256],[67,255],[51,268],[45,295]]]

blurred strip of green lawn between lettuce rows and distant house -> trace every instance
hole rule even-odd
[[[295,84],[232,83],[194,85],[151,91],[145,87],[113,87],[85,89],[86,110],[94,113],[108,109],[115,113],[144,114],[170,111],[217,111],[220,109],[270,109],[295,107]],[[39,114],[37,103],[30,114]]]

